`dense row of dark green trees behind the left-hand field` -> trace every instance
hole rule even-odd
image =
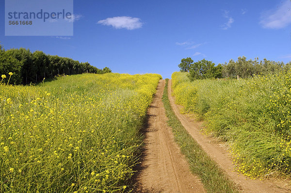
[[[57,75],[111,72],[110,68],[98,69],[88,62],[80,63],[71,58],[47,55],[42,51],[31,52],[29,49],[4,50],[0,45],[0,75],[13,72],[10,82],[29,84],[53,78]]]

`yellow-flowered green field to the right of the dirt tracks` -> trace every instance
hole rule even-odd
[[[291,172],[291,72],[250,79],[194,80],[172,74],[182,113],[230,146],[237,171],[252,179]]]

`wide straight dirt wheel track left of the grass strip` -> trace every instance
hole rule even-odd
[[[172,129],[167,125],[162,93],[165,80],[160,80],[157,93],[148,109],[145,149],[138,168],[135,193],[204,193],[188,162],[174,142]]]

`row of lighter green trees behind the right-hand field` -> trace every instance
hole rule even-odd
[[[230,60],[225,64],[215,65],[205,59],[195,62],[191,58],[183,58],[178,64],[181,72],[189,72],[190,80],[213,79],[213,78],[249,78],[256,74],[267,75],[280,71],[287,71],[291,68],[291,62],[269,61],[259,58],[246,60],[246,57],[238,57],[237,61]]]

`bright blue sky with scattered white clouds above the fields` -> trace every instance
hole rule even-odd
[[[73,36],[5,36],[0,44],[69,57],[118,73],[170,78],[182,58],[215,64],[291,61],[290,0],[74,0]]]

